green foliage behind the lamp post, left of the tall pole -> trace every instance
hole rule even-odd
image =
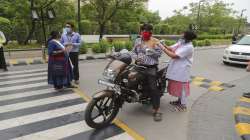
[[[44,6],[46,3],[50,3],[52,0],[33,0],[34,6],[38,8],[40,12],[40,7]],[[30,17],[30,1],[28,0],[4,0],[0,2],[0,13],[1,17],[9,20],[8,26],[0,26],[0,30],[5,32],[6,37],[9,40],[17,40],[19,44],[23,44],[27,39],[30,30],[32,29],[32,19]],[[66,21],[74,21],[75,10],[74,3],[68,0],[55,1],[51,7],[54,8],[56,13],[56,18],[54,20],[46,20],[46,35],[52,30],[62,31]],[[44,10],[45,14],[46,10]],[[40,13],[39,13],[40,16]],[[6,23],[7,20],[4,20]],[[0,19],[0,25],[2,25],[2,18]],[[41,24],[36,22],[35,32],[31,39],[35,39],[38,42],[42,42],[43,33]]]

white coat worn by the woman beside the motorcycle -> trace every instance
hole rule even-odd
[[[193,63],[193,44],[178,42],[171,46],[176,55],[180,58],[171,59],[167,69],[166,77],[170,80],[179,82],[188,82],[191,75],[191,66]]]

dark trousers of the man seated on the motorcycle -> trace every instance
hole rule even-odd
[[[157,67],[145,71],[146,93],[151,97],[153,109],[160,108],[160,90],[157,87]]]

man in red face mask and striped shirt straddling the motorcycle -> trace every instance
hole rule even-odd
[[[155,121],[162,120],[162,113],[160,109],[160,91],[157,87],[157,69],[159,64],[159,57],[162,54],[159,40],[152,37],[153,26],[150,24],[143,24],[140,28],[141,37],[135,40],[134,48],[132,50],[132,57],[136,64],[146,67],[145,70],[145,84],[147,91],[151,97],[153,105],[153,116]]]

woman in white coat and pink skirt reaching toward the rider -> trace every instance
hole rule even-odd
[[[194,47],[192,40],[197,36],[192,31],[184,32],[183,38],[171,47],[162,46],[163,51],[172,59],[170,60],[166,77],[168,92],[178,97],[177,101],[170,102],[180,111],[186,111],[187,97],[190,95],[189,81],[193,63]]]

